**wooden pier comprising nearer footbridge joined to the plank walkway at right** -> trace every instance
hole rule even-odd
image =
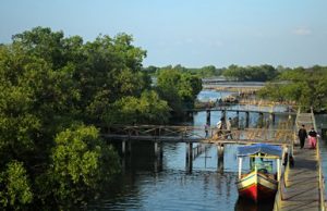
[[[300,111],[300,110],[299,110]],[[289,121],[292,124],[292,121]],[[211,127],[206,135],[204,127],[196,126],[164,126],[164,125],[111,125],[101,127],[101,135],[112,141],[121,141],[122,153],[131,150],[131,141],[148,141],[155,145],[155,154],[161,158],[162,142],[185,142],[186,171],[192,172],[193,160],[206,151],[206,146],[216,145],[218,151],[218,169],[223,169],[223,146],[225,145],[251,145],[267,142],[272,145],[288,146],[294,158],[294,166],[288,162],[281,175],[278,193],[275,198],[275,211],[289,210],[322,210],[325,211],[324,177],[322,173],[319,145],[316,149],[300,149],[294,144],[298,140],[296,132],[304,124],[307,129],[316,128],[314,114],[298,112],[295,128],[286,124],[278,129],[268,128],[245,128],[232,129],[232,139],[223,135],[216,136],[217,129]],[[289,129],[292,128],[292,129]],[[193,146],[194,144],[195,147]],[[128,147],[126,147],[128,146]],[[161,154],[161,156],[160,156]],[[290,154],[290,153],[289,153]]]

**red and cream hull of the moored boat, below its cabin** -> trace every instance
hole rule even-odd
[[[252,172],[237,182],[239,196],[254,201],[274,199],[278,182],[259,172]]]

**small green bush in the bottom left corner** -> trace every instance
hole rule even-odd
[[[0,174],[0,206],[4,209],[23,210],[32,200],[33,193],[26,170],[22,162],[13,160]]]

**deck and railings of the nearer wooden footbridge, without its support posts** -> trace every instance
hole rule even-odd
[[[291,145],[295,134],[293,129],[245,128],[227,132],[217,136],[217,128],[209,128],[208,136],[199,126],[162,126],[162,125],[112,125],[102,132],[102,137],[113,140],[142,140],[159,142],[205,142],[205,144],[254,144],[270,142]],[[232,138],[230,138],[232,137]]]

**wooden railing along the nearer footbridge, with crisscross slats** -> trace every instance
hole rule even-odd
[[[219,132],[219,133],[218,133]],[[208,128],[208,136],[205,133],[204,126],[165,126],[165,125],[110,125],[101,127],[101,134],[116,136],[124,136],[125,138],[135,138],[138,136],[152,138],[154,140],[160,137],[175,137],[181,140],[190,139],[209,139],[209,140],[223,140],[233,138],[234,140],[255,140],[268,141],[277,144],[290,145],[294,134],[292,129],[284,128],[245,128],[242,131],[233,129],[217,129],[217,127]],[[231,136],[232,137],[231,137]],[[108,136],[107,136],[108,137]]]

